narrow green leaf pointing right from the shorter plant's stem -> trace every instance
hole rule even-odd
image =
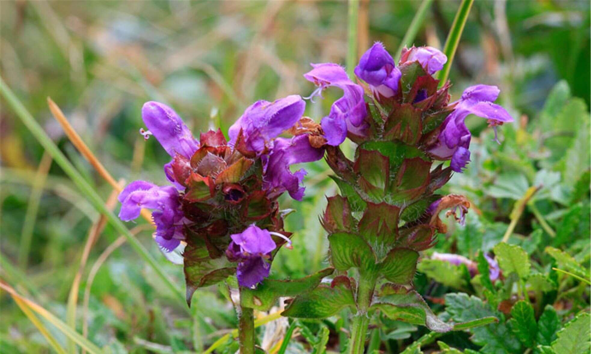
[[[274,280],[265,279],[256,289],[242,289],[242,303],[246,307],[252,307],[259,311],[268,311],[274,306],[279,297],[297,296],[301,293],[313,290],[320,284],[322,278],[329,276],[335,271],[333,268],[326,268],[310,276],[295,280]]]

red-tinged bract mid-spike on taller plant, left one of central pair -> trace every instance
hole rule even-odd
[[[353,170],[375,188],[385,191],[390,178],[389,159],[375,150],[358,150]]]

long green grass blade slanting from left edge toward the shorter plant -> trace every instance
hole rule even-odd
[[[129,230],[125,227],[125,224],[115,216],[109,209],[106,207],[105,203],[100,199],[98,193],[93,189],[86,181],[80,176],[80,173],[76,171],[72,163],[66,159],[66,156],[60,151],[59,148],[55,145],[55,143],[47,136],[47,133],[43,130],[43,128],[35,121],[31,113],[22,105],[21,101],[18,100],[17,96],[12,93],[12,90],[9,89],[7,84],[4,83],[4,80],[0,78],[0,93],[2,96],[8,101],[8,105],[17,113],[17,116],[22,120],[22,122],[27,126],[35,139],[38,140],[39,143],[45,148],[53,159],[56,161],[58,165],[60,165],[61,169],[72,179],[72,181],[76,184],[76,186],[82,191],[82,194],[86,196],[86,198],[90,201],[93,207],[96,208],[101,214],[104,214],[109,221],[109,224],[115,228],[115,230],[121,234],[123,234],[131,247],[134,251],[148,263],[148,265],[154,270],[158,277],[160,277],[164,284],[172,291],[173,294],[178,297],[180,301],[185,303],[185,296],[180,289],[166,276],[164,270],[158,265],[157,261],[152,257],[150,253],[144,248],[144,246],[134,237],[134,235],[129,232]],[[183,307],[188,311],[186,306]]]

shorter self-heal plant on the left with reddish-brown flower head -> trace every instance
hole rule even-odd
[[[199,287],[236,275],[243,353],[254,352],[257,298],[248,291],[269,276],[280,247],[291,244],[277,198],[286,191],[298,200],[304,195],[306,171],[292,173],[290,165],[324,154],[306,135],[277,137],[300,120],[305,107],[300,96],[257,101],[230,127],[229,141],[220,130],[202,133],[198,141],[170,107],[148,102],[142,108],[148,130],[141,133],[153,135],[171,156],[164,165],[171,184],[135,181],[119,195],[121,219],[130,221],[141,208],[151,209],[160,248],[182,249],[188,304]],[[307,286],[316,286],[327,274],[310,278]]]

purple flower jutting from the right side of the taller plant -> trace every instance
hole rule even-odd
[[[492,103],[498,96],[499,89],[496,86],[468,87],[462,97],[455,102],[457,105],[452,114],[447,116],[441,124],[438,141],[430,148],[429,152],[440,160],[451,159],[453,171],[462,172],[462,168],[470,161],[468,149],[472,135],[464,123],[469,114],[488,119],[489,126],[495,129],[497,142],[496,126],[513,122],[513,118],[503,107]]]

